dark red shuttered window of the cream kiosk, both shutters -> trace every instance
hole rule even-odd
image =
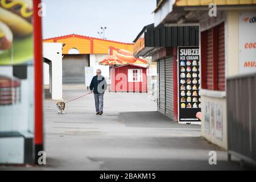
[[[225,91],[224,23],[201,32],[201,65],[202,88]]]

